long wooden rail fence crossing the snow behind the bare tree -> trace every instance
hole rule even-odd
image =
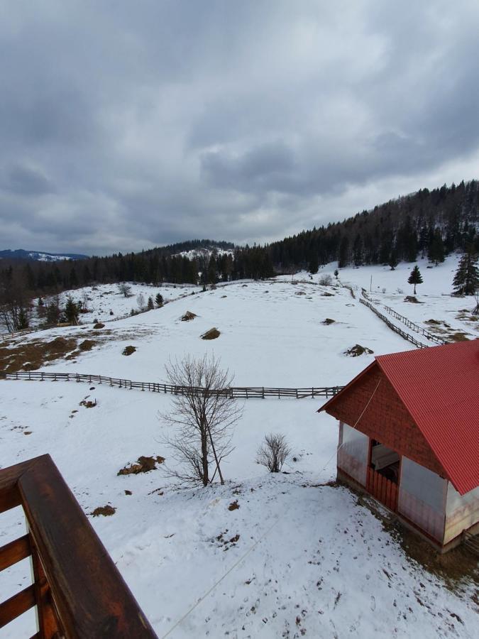
[[[173,386],[172,384],[159,382],[142,382],[131,379],[107,377],[105,375],[89,375],[88,373],[45,373],[43,371],[18,371],[17,373],[0,373],[0,379],[28,380],[28,381],[76,381],[86,383],[109,384],[128,390],[136,388],[150,393],[168,393],[170,395],[186,395],[187,393],[205,393],[204,388],[196,386]],[[233,398],[282,398],[289,397],[303,399],[307,397],[332,397],[341,391],[343,386],[321,386],[309,388],[268,388],[266,386],[236,386],[222,388],[219,391],[211,390],[213,395],[226,395]]]

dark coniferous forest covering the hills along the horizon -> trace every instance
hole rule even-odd
[[[211,255],[199,249],[218,249]],[[222,250],[219,250],[222,249]],[[182,252],[196,250],[190,259]],[[0,303],[23,305],[40,295],[121,281],[160,284],[216,283],[267,278],[337,261],[338,268],[364,264],[439,263],[452,251],[479,252],[479,182],[422,189],[327,226],[314,227],[265,246],[185,241],[140,253],[116,253],[77,261],[43,263],[2,260]],[[224,252],[226,251],[226,252]]]

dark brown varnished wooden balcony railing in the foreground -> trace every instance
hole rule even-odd
[[[28,534],[0,571],[31,557],[34,581],[0,603],[0,628],[36,606],[38,639],[156,638],[50,455],[0,470],[0,513],[16,506]]]

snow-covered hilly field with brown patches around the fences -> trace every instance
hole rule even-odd
[[[417,297],[427,308],[402,302],[412,293],[406,283],[411,265],[393,272],[343,269],[340,280],[369,290],[372,274],[378,304],[416,322],[434,318],[467,326],[471,337],[478,336],[472,320],[461,324],[455,317],[472,307],[472,298],[441,295],[450,292],[455,264],[455,258],[435,269],[420,264],[424,284]],[[372,355],[344,354],[355,344],[375,354],[412,348],[346,288],[315,283],[332,271],[334,265],[314,275],[313,283],[305,275],[307,283],[295,285],[278,278],[195,295],[189,293],[199,288],[171,288],[172,298],[188,295],[106,324],[91,351],[44,370],[163,381],[169,358],[213,351],[235,373],[237,386],[326,386],[346,383],[372,361]],[[113,300],[121,300],[116,287],[110,289],[111,295],[98,295],[107,313]],[[167,290],[160,290],[165,299]],[[197,317],[181,322],[187,310]],[[119,307],[114,312],[120,315]],[[335,321],[324,324],[326,318]],[[200,339],[211,327],[220,337]],[[23,342],[87,332],[91,324],[35,333]],[[122,355],[126,345],[136,352]],[[97,400],[94,408],[80,405],[87,396]],[[236,448],[224,465],[226,486],[179,488],[160,469],[117,476],[140,455],[168,459],[159,413],[170,402],[168,395],[107,385],[0,381],[1,466],[48,452],[86,513],[106,504],[116,508],[114,515],[90,520],[160,637],[197,602],[169,637],[477,636],[477,584],[468,578],[448,587],[412,561],[356,495],[321,485],[335,478],[337,440],[334,420],[316,413],[321,401],[248,400],[236,426]],[[285,465],[288,474],[270,475],[255,464],[255,452],[271,431],[285,433],[291,444],[296,461]],[[239,508],[229,510],[233,501]],[[21,530],[18,509],[0,515],[0,545]],[[27,561],[0,573],[0,601],[30,578]],[[31,636],[33,618],[26,613],[0,637]]]

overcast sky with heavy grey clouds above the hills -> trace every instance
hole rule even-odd
[[[478,0],[0,0],[0,249],[265,242],[479,178],[478,33]]]

